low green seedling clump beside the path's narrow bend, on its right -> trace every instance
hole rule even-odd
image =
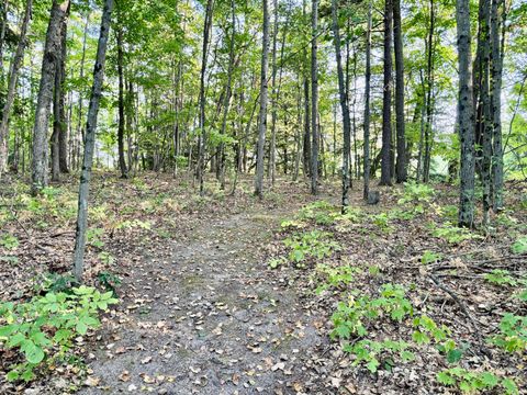
[[[332,240],[333,235],[328,232],[312,230],[305,234],[294,234],[283,240],[290,249],[289,261],[298,267],[304,267],[307,258],[323,259],[330,257],[334,251],[340,249],[338,242]]]

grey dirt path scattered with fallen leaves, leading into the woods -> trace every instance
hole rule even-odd
[[[309,388],[305,360],[325,341],[294,290],[260,258],[285,214],[236,214],[143,257],[105,324],[83,394],[290,394]]]

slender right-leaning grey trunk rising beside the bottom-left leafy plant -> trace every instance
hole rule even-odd
[[[113,0],[105,0],[104,9],[102,11],[99,44],[97,46],[96,65],[93,68],[93,87],[91,88],[90,105],[88,108],[88,119],[86,122],[85,157],[82,159],[82,170],[80,173],[74,256],[74,274],[78,281],[82,281],[85,266],[86,228],[88,226],[88,194],[91,167],[93,163],[93,150],[96,146],[97,115],[99,113],[99,102],[101,100],[102,82],[104,78],[104,63],[106,59],[106,44],[110,33],[112,10]]]

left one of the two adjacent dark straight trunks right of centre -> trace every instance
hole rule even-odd
[[[392,184],[392,0],[384,4],[384,80],[382,100],[381,185]]]

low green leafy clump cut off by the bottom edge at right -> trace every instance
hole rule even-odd
[[[447,386],[456,386],[463,394],[501,388],[505,394],[518,394],[516,383],[495,373],[469,371],[459,366],[444,370],[437,374],[437,381]]]

